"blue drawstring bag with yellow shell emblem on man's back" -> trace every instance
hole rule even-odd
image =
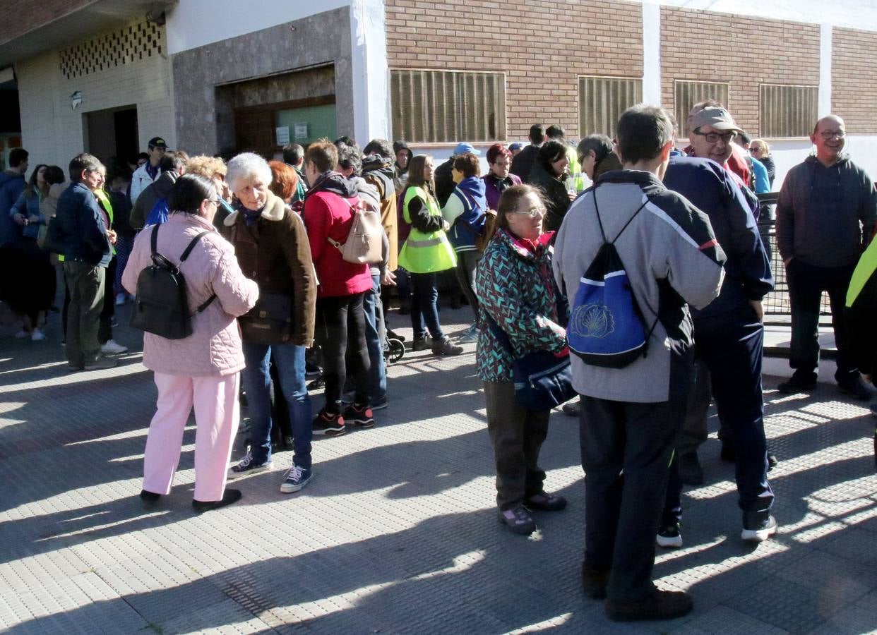
[[[648,199],[631,215],[612,241],[603,230],[597,208],[596,188],[594,209],[603,243],[576,289],[567,325],[569,349],[591,366],[624,368],[648,352],[649,337],[658,323],[657,317],[648,328],[624,263],[615,248]]]

